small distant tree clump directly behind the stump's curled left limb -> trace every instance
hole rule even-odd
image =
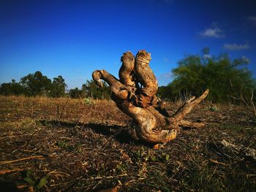
[[[102,82],[102,88],[98,88],[93,80],[87,80],[82,85],[86,97],[94,99],[110,99],[111,90],[106,82]]]

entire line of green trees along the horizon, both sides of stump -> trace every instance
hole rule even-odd
[[[227,54],[210,55],[209,48],[205,47],[201,54],[186,55],[178,61],[178,66],[172,70],[173,81],[167,86],[159,87],[158,96],[170,101],[187,99],[191,95],[200,96],[209,88],[208,100],[213,102],[252,98],[256,82],[247,68],[248,64],[249,61],[245,58],[232,60]],[[74,88],[69,93],[65,93],[66,88],[67,84],[61,75],[50,80],[42,72],[35,72],[22,77],[20,82],[12,80],[2,83],[0,94],[110,99],[110,87],[105,82],[102,88],[97,88],[93,80],[87,80],[81,89]]]

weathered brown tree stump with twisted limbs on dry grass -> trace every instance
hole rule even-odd
[[[132,135],[151,143],[169,142],[176,138],[180,127],[200,128],[204,123],[192,123],[183,118],[206,98],[206,90],[199,98],[186,101],[174,115],[169,115],[157,98],[157,79],[149,62],[151,54],[140,50],[134,57],[131,52],[121,57],[122,66],[119,70],[119,80],[105,70],[92,73],[93,80],[102,86],[101,80],[110,85],[111,99],[117,107],[135,121]]]

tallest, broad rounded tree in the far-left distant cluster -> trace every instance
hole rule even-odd
[[[43,76],[42,72],[39,71],[22,77],[20,83],[25,88],[25,94],[27,96],[47,95],[51,87],[51,80]]]

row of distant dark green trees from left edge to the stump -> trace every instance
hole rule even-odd
[[[87,80],[82,85],[82,89],[70,89],[69,93],[65,93],[67,84],[64,78],[59,75],[50,80],[42,74],[42,72],[34,72],[25,77],[20,78],[20,82],[12,80],[12,82],[4,82],[0,86],[0,94],[4,96],[49,96],[49,97],[63,97],[70,96],[74,99],[81,99],[91,97],[94,99],[109,99],[110,88],[106,83],[103,83],[101,89],[92,80]]]

